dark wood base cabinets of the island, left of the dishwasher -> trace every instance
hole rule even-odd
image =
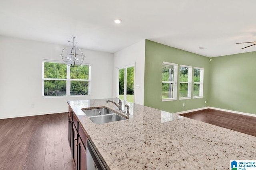
[[[86,133],[70,107],[68,112],[68,141],[75,168],[76,170],[86,170]]]

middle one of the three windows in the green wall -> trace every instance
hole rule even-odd
[[[191,98],[192,67],[180,65],[180,100]]]

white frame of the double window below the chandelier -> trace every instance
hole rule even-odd
[[[44,78],[44,63],[60,63],[66,64],[63,61],[55,61],[55,60],[43,60],[42,61],[42,98],[63,98],[63,97],[78,97],[78,96],[90,96],[91,94],[91,64],[82,63],[81,65],[89,66],[89,76],[88,79],[70,79],[70,66],[67,66],[67,75],[65,78]],[[62,96],[44,96],[44,80],[64,80],[66,81],[66,95]],[[88,94],[85,95],[70,95],[71,90],[71,81],[88,81]]]

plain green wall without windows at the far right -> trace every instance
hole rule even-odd
[[[214,57],[209,106],[256,114],[256,52]]]

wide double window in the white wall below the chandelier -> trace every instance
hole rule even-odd
[[[42,96],[90,95],[90,65],[43,62]]]

